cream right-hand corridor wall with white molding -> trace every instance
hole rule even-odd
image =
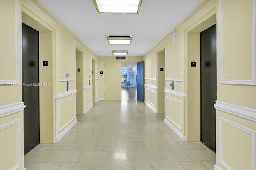
[[[176,43],[169,32],[144,57],[146,84],[156,85],[150,68],[155,48],[166,41],[165,123],[182,140],[200,141],[200,32],[217,23],[216,169],[255,168],[255,8],[253,0],[203,1],[170,31]]]

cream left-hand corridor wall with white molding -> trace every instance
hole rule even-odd
[[[58,142],[76,124],[76,44],[79,43],[84,49],[82,70],[92,70],[92,64],[88,62],[92,60],[92,55],[98,68],[98,57],[40,2],[0,1],[1,169],[24,167],[22,22],[39,31],[40,63],[49,61],[48,67],[42,67],[40,64],[40,83],[49,83],[47,86],[40,86],[40,143]],[[77,43],[74,43],[74,40]],[[70,74],[69,78],[66,78],[66,73]],[[83,72],[83,86],[88,84],[86,76],[86,72]],[[69,91],[66,91],[67,80],[69,80]],[[96,78],[96,83],[97,81]],[[92,98],[88,98],[87,102],[92,102]],[[15,128],[14,126],[5,128],[12,122],[18,122],[18,124],[14,123]],[[7,133],[8,137],[6,137]],[[13,139],[12,142],[9,138]]]

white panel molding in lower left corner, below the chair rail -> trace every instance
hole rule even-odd
[[[11,127],[11,126],[14,126],[16,125],[16,164],[10,168],[11,170],[16,170],[20,167],[20,143],[23,143],[20,141],[20,120],[17,119],[15,121],[11,121],[9,123],[6,123],[2,126],[0,126],[0,131],[8,128],[8,127]],[[23,134],[22,134],[23,135]]]

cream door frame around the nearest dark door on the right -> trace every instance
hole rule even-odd
[[[201,140],[201,102],[200,102],[200,33],[217,23],[216,8],[211,8],[204,17],[182,25],[184,39],[184,84],[187,97],[185,98],[185,136],[186,141]],[[190,20],[189,20],[190,21]],[[218,37],[218,27],[217,27]],[[216,42],[218,43],[218,42]],[[218,53],[216,53],[218,68]],[[196,61],[196,67],[191,62]],[[217,74],[218,76],[218,74]]]

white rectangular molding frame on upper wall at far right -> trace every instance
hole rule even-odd
[[[223,72],[223,29],[222,29],[222,0],[220,0],[219,2],[219,20],[220,20],[220,24],[219,24],[219,30],[220,30],[220,83],[222,84],[244,84],[244,85],[256,85],[256,53],[255,53],[255,40],[256,40],[256,33],[255,33],[255,29],[256,29],[256,13],[255,13],[255,9],[256,9],[256,2],[255,0],[252,1],[253,5],[252,5],[252,10],[253,10],[253,14],[252,14],[252,79],[251,80],[231,80],[231,79],[224,79],[224,72]]]

